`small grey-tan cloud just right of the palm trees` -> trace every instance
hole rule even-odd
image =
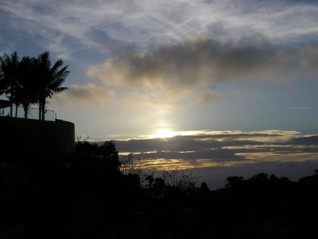
[[[82,105],[100,107],[112,100],[114,96],[113,90],[94,84],[71,85],[67,91],[54,96],[51,103],[57,106],[63,104],[73,107]]]

